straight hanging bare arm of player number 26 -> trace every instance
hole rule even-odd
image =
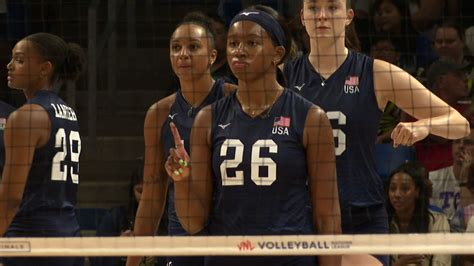
[[[331,124],[324,111],[312,107],[306,117],[304,144],[308,164],[313,223],[318,234],[341,234],[336,157]],[[340,256],[320,256],[320,265],[340,265]]]

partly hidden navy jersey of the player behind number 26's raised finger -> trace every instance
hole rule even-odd
[[[181,139],[184,141],[184,146],[189,151],[189,141],[191,128],[193,126],[194,118],[198,112],[205,106],[212,104],[224,96],[224,81],[216,80],[214,86],[211,88],[209,94],[204,101],[197,108],[190,105],[184,98],[181,90],[176,92],[176,100],[170,108],[170,113],[161,129],[161,143],[163,145],[164,158],[168,158],[170,148],[174,148],[174,139],[171,134],[169,123],[173,122],[179,130]],[[186,235],[186,231],[181,227],[176,215],[174,206],[174,186],[169,184],[168,191],[168,233],[170,235]]]

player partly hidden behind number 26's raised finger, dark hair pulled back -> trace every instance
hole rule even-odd
[[[153,104],[146,115],[144,186],[135,218],[134,235],[154,235],[168,195],[168,233],[187,235],[174,208],[174,188],[168,185],[164,169],[169,149],[174,147],[169,123],[173,122],[189,147],[189,134],[196,114],[204,106],[232,89],[223,80],[214,80],[211,66],[217,58],[214,31],[210,19],[202,13],[188,14],[174,30],[170,40],[170,60],[178,76],[178,92]],[[167,193],[169,189],[169,192]],[[127,265],[138,265],[138,257],[129,257]],[[203,257],[170,257],[173,266],[202,265]]]

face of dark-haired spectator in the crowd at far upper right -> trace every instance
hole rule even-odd
[[[439,57],[458,59],[464,54],[464,43],[456,29],[442,27],[436,30],[434,49]]]

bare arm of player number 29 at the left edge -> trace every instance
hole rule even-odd
[[[8,118],[0,183],[0,235],[5,233],[20,205],[35,149],[48,142],[50,124],[48,113],[38,105],[24,105]]]

